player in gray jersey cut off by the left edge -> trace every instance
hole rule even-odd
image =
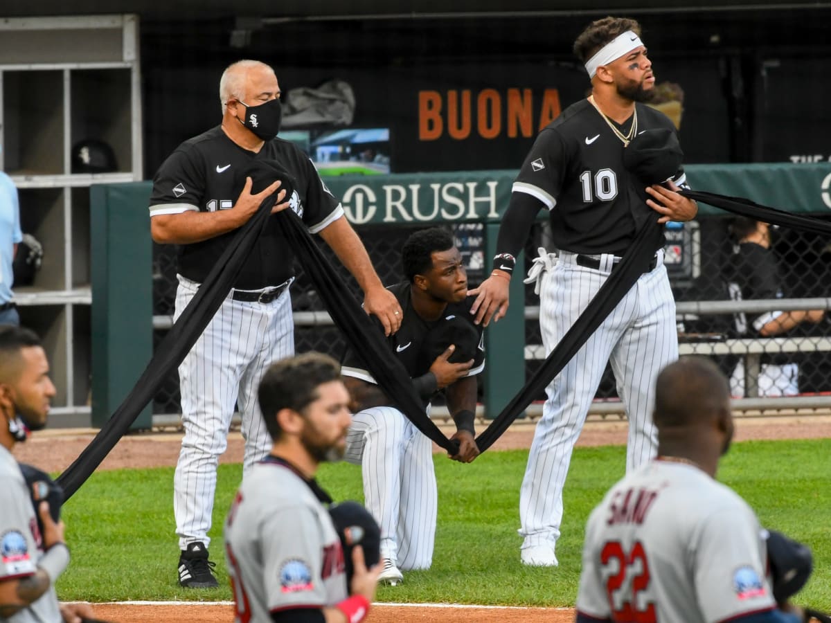
[[[64,524],[42,502],[37,517],[12,446],[47,423],[55,385],[41,341],[22,326],[0,327],[0,621],[81,623],[89,604],[59,604],[55,582],[69,565]],[[43,531],[38,527],[40,518]]]

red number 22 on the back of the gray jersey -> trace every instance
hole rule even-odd
[[[617,572],[606,581],[606,593],[609,606],[612,607],[612,620],[616,623],[656,623],[655,604],[646,603],[638,609],[638,593],[649,588],[649,563],[640,541],[632,545],[627,554],[620,541],[608,541],[600,552],[600,562],[607,567],[612,561],[617,562]],[[626,593],[623,586],[631,589]]]

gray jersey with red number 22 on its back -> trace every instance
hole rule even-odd
[[[661,459],[588,518],[577,608],[612,621],[710,623],[774,608],[755,513],[701,469]]]

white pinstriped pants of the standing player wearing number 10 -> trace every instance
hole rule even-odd
[[[540,329],[546,354],[557,346],[607,277],[608,272],[563,261],[543,273]],[[631,470],[656,454],[655,379],[676,359],[675,300],[666,267],[661,265],[641,275],[546,388],[548,400],[534,431],[519,494],[523,547],[553,547],[560,536],[568,464],[607,361],[627,410],[627,470]]]

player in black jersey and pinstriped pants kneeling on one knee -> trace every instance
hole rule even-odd
[[[406,281],[390,287],[404,310],[389,346],[410,374],[425,409],[438,390],[456,424],[451,459],[470,463],[475,444],[476,378],[484,369],[482,327],[473,324],[467,274],[453,236],[424,229],[402,249]],[[437,489],[432,444],[384,395],[354,351],[343,357],[356,414],[347,436],[347,461],[361,465],[366,508],[381,525],[381,581],[433,561]]]

